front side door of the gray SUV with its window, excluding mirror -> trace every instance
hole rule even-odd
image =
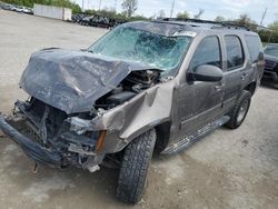
[[[198,44],[188,71],[210,64],[222,68],[220,38],[210,36]],[[205,82],[188,80],[179,89],[180,136],[188,136],[220,116],[224,98],[224,81]]]

